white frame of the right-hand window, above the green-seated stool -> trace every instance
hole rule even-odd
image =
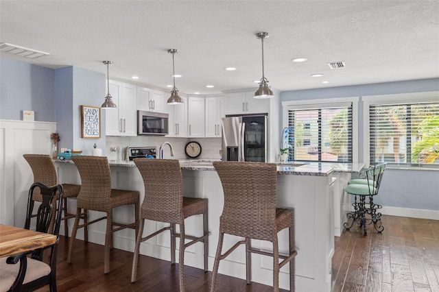
[[[370,165],[370,106],[385,106],[388,104],[418,104],[422,102],[438,102],[439,91],[428,91],[420,93],[400,93],[392,95],[365,95],[361,97],[363,101],[363,157],[365,167]],[[436,165],[430,166],[438,169]],[[388,165],[394,169],[427,169],[428,165]]]

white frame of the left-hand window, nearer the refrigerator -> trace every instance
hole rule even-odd
[[[282,101],[282,125],[288,127],[288,110],[293,110],[297,108],[302,108],[303,106],[332,106],[333,104],[352,104],[352,162],[340,162],[340,163],[358,163],[358,104],[359,97],[335,97],[335,98],[325,98],[325,99],[302,99],[296,101]]]

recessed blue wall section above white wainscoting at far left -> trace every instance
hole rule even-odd
[[[56,121],[54,70],[0,58],[0,119],[21,120],[33,110],[35,121]]]

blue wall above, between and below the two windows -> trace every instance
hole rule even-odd
[[[360,97],[358,109],[359,125],[356,130],[359,134],[359,161],[362,162],[364,161],[363,145],[368,143],[368,141],[364,141],[363,135],[365,121],[363,119],[363,102],[361,97],[427,91],[439,91],[439,78],[284,91],[281,93],[281,101]],[[386,169],[376,202],[386,207],[439,211],[439,169],[437,171]]]

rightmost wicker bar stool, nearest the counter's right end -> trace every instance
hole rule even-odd
[[[213,265],[211,292],[216,291],[219,260],[226,258],[239,245],[246,245],[246,280],[252,276],[251,253],[272,256],[273,288],[279,290],[279,269],[289,262],[289,289],[294,291],[294,210],[276,208],[276,165],[260,162],[213,162],[224,191],[224,209],[219,219],[219,241]],[[289,254],[278,252],[277,233],[289,228]],[[222,254],[224,234],[245,237]],[[273,252],[251,246],[251,239],[271,241]],[[279,263],[279,258],[283,261]]]

